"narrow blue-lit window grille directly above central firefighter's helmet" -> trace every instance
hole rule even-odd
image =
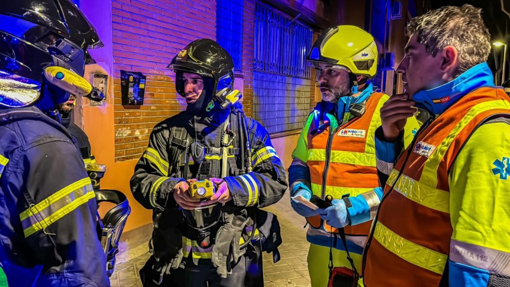
[[[216,0],[216,40],[230,54],[234,68],[239,71],[242,64],[242,15],[242,0]]]

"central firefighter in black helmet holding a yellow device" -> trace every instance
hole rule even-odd
[[[277,251],[281,238],[273,214],[258,208],[284,195],[282,162],[245,117],[218,43],[195,40],[169,67],[187,108],[156,125],[131,179],[154,210],[144,286],[262,286],[261,251]]]

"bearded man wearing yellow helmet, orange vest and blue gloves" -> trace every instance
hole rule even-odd
[[[329,29],[308,55],[322,101],[301,131],[289,184],[292,207],[309,223],[312,286],[326,286],[328,278],[355,286],[359,278],[363,246],[382,196],[374,132],[389,97],[369,81],[377,56],[372,35],[347,25]],[[416,121],[407,122],[406,143],[417,127]]]

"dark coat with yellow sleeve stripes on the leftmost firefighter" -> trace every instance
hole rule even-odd
[[[109,286],[94,191],[65,128],[35,107],[0,109],[0,282]]]

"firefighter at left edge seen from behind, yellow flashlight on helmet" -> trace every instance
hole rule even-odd
[[[91,181],[55,111],[86,94],[69,83],[101,42],[72,2],[34,5],[0,5],[0,285],[109,286]]]

